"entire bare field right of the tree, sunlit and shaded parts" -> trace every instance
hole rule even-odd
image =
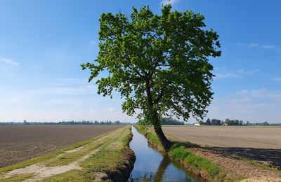
[[[281,127],[163,127],[172,139],[281,169]]]

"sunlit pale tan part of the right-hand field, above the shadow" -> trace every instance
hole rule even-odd
[[[281,127],[163,127],[201,146],[281,149]]]

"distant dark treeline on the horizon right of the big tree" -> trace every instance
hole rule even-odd
[[[244,122],[243,120],[218,120],[218,119],[207,119],[206,122],[200,121],[200,125],[226,125],[226,126],[281,126],[281,123],[269,124],[267,122],[263,123],[249,123],[249,121]]]

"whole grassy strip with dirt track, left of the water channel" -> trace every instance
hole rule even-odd
[[[134,153],[129,148],[131,138],[131,127],[123,127],[109,134],[81,141],[63,150],[1,168],[0,181],[22,181],[23,179],[34,181],[126,181],[135,161]],[[47,177],[31,172],[25,172],[24,175],[16,174],[16,171],[28,168],[30,165],[44,167],[46,170],[60,170],[67,167],[70,167],[70,170]],[[72,167],[73,165],[75,167]],[[13,175],[5,177],[9,171]]]

